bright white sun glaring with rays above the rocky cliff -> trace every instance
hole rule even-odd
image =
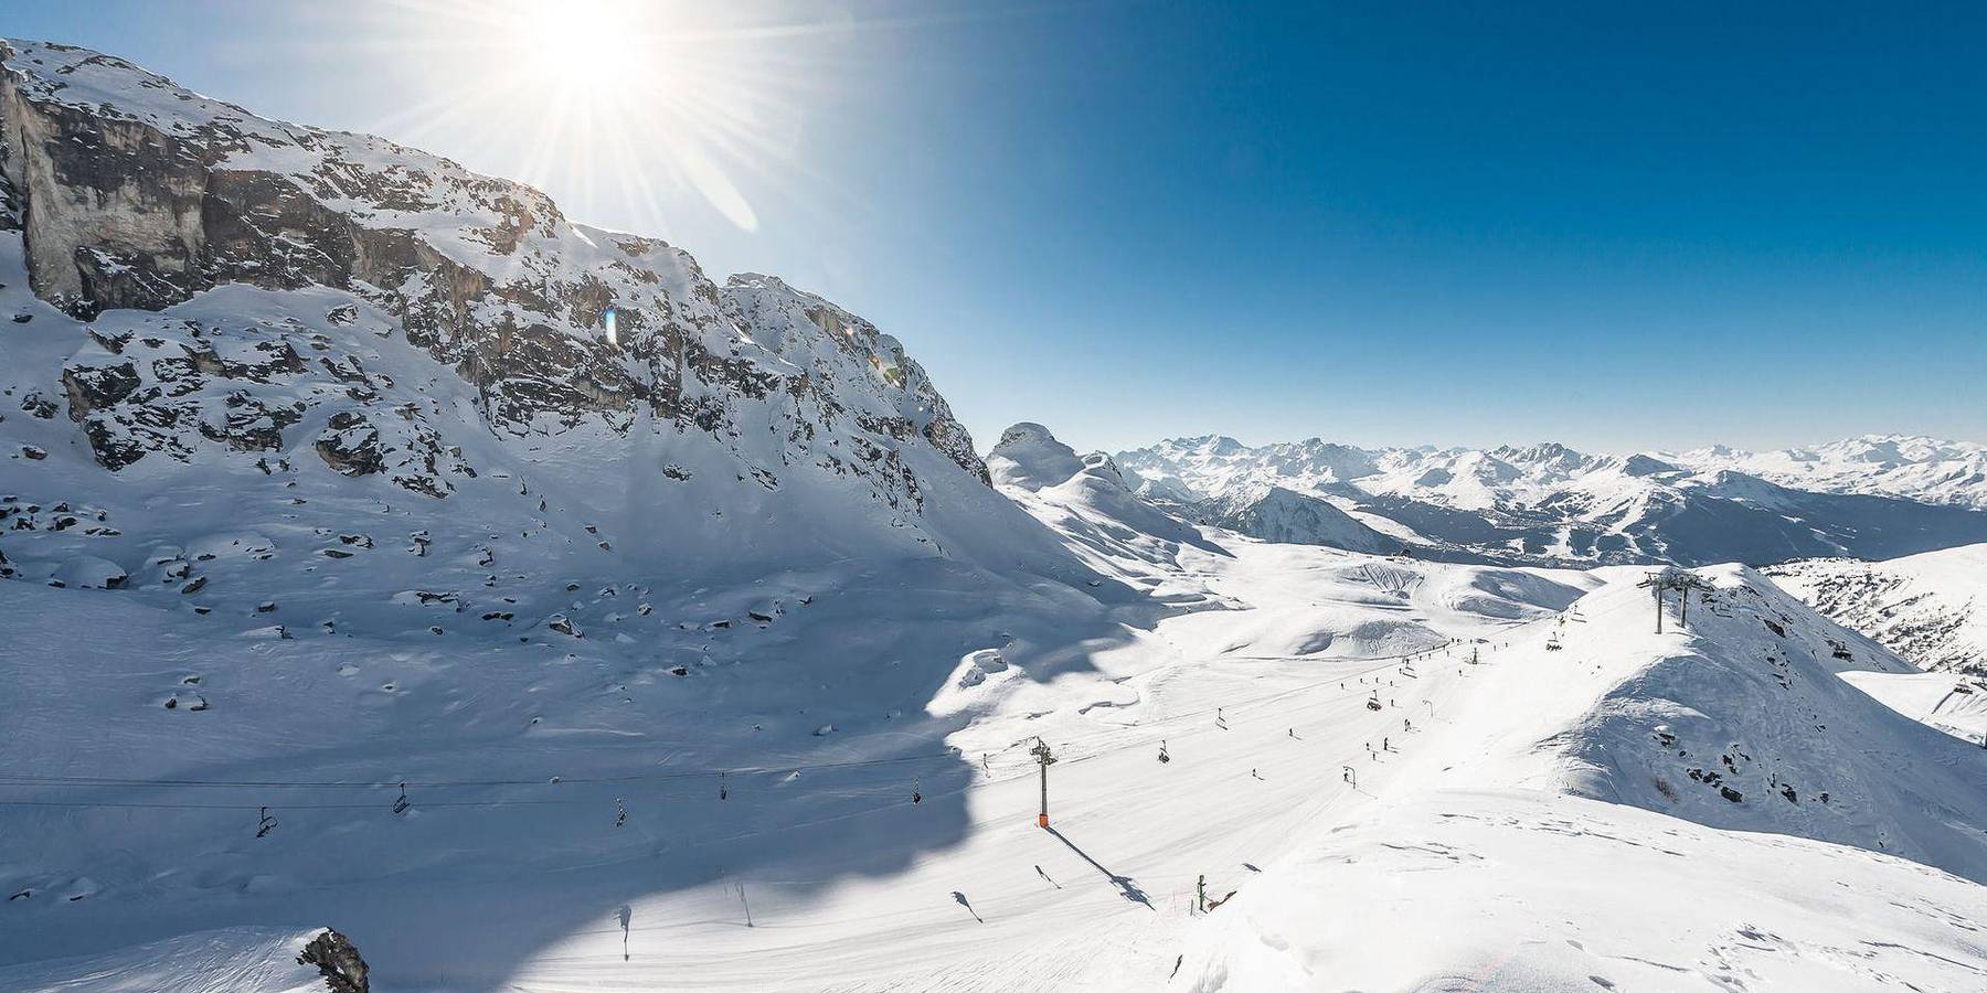
[[[797,135],[839,79],[841,22],[703,0],[393,0],[427,97],[382,121],[481,145],[491,169],[588,214],[668,226],[701,201],[743,230],[745,191],[813,179]],[[465,141],[467,135],[467,141]],[[693,201],[680,197],[693,193]]]

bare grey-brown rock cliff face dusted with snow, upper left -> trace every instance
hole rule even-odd
[[[113,471],[310,441],[338,473],[445,496],[475,469],[433,411],[326,334],[364,324],[469,381],[499,435],[703,435],[769,489],[825,471],[896,510],[926,491],[906,445],[986,481],[924,369],[819,296],[719,286],[531,187],[268,121],[111,56],[0,44],[0,181],[34,292],[93,322],[62,387]],[[292,296],[219,326],[155,314],[229,284]]]

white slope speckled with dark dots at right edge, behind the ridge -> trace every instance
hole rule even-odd
[[[1987,544],[1888,562],[1816,558],[1768,572],[1814,610],[1925,669],[1987,673]]]

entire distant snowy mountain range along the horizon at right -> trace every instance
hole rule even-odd
[[[1896,558],[1987,540],[1987,447],[1866,435],[1774,453],[1168,439],[1117,453],[1180,516],[1266,540],[1536,564]]]

